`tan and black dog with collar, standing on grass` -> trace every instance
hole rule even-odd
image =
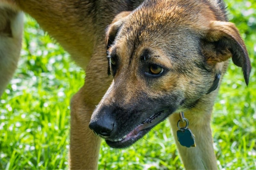
[[[222,0],[1,0],[0,94],[19,59],[22,11],[86,71],[70,102],[71,169],[97,168],[100,138],[129,147],[166,118],[185,168],[217,169],[210,119],[221,78],[229,58],[247,85],[251,71]],[[196,147],[179,143],[179,112]]]

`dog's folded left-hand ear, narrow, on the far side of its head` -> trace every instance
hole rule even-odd
[[[124,11],[116,15],[112,23],[107,27],[106,31],[106,47],[107,50],[115,41],[116,34],[123,25],[124,19],[131,13],[131,11]]]

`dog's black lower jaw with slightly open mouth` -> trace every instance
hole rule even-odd
[[[173,111],[162,110],[141,122],[132,131],[119,139],[106,138],[106,143],[112,148],[127,148],[147,134],[153,127],[164,121]]]

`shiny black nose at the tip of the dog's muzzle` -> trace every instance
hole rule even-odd
[[[114,122],[109,120],[91,121],[89,128],[101,137],[110,137],[111,131],[114,128]]]

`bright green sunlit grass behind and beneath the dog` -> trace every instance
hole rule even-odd
[[[252,62],[246,87],[240,68],[229,65],[212,118],[220,169],[256,169],[256,3],[229,0],[230,19],[245,40]],[[84,72],[30,17],[25,20],[19,67],[0,99],[0,169],[67,169],[69,100]],[[102,142],[100,169],[183,168],[164,121],[125,150]]]

